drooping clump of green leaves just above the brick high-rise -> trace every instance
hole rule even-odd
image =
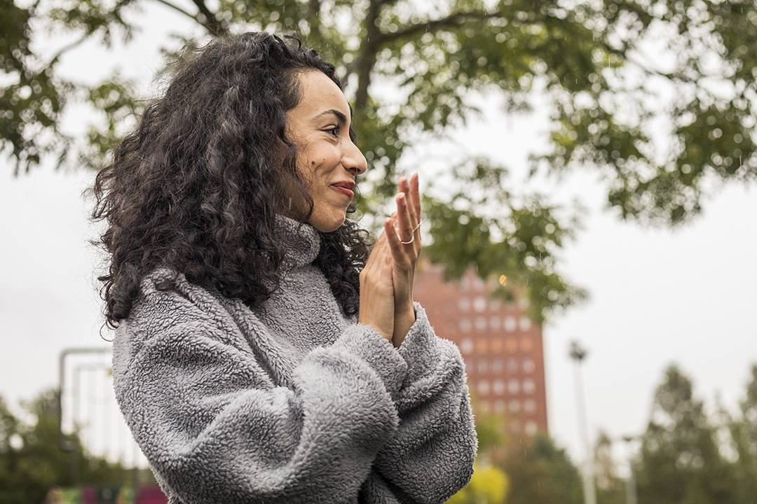
[[[486,159],[454,166],[451,178],[456,190],[444,193],[432,184],[429,192],[443,196],[424,203],[432,239],[424,253],[444,263],[447,277],[472,267],[481,278],[500,280],[495,295],[509,301],[525,295],[536,323],[586,297],[556,272],[557,254],[575,233],[578,215],[538,194],[512,195],[503,189],[510,185],[506,169]]]

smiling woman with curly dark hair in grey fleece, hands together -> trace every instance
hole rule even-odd
[[[418,179],[370,255],[334,66],[267,33],[184,54],[98,174],[114,386],[170,502],[444,502],[463,363],[413,305]]]

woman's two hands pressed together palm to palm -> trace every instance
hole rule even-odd
[[[413,282],[421,252],[418,174],[397,184],[397,212],[384,220],[366,267],[360,272],[358,322],[374,326],[399,347],[416,321]]]

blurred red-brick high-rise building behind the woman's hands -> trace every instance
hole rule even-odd
[[[438,336],[463,354],[475,413],[501,413],[516,436],[547,432],[541,328],[525,314],[528,301],[491,298],[493,286],[469,271],[445,283],[441,267],[424,264],[413,295]]]

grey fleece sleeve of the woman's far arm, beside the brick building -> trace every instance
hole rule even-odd
[[[452,342],[434,334],[417,303],[400,355],[408,365],[396,397],[400,424],[378,453],[363,492],[389,490],[399,502],[444,502],[470,481],[477,447],[463,359]]]

